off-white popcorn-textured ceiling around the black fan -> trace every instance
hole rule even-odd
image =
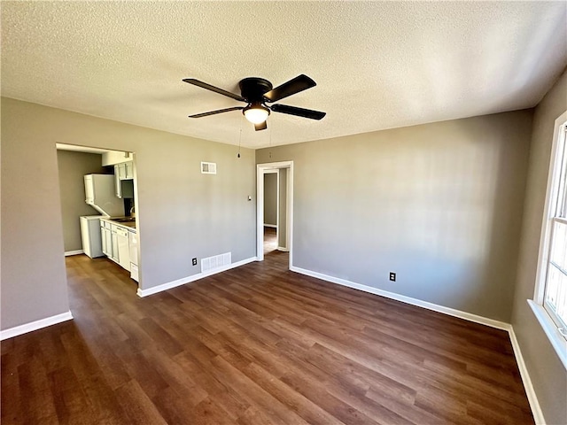
[[[567,65],[565,2],[2,2],[2,95],[259,148],[532,107]],[[305,73],[254,132],[239,93]]]

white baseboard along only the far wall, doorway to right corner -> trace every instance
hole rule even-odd
[[[354,290],[362,290],[364,292],[369,292],[370,294],[375,294],[381,297],[395,299],[396,301],[401,301],[402,303],[423,307],[428,310],[432,310],[434,312],[448,314],[449,316],[458,317],[466,321],[474,321],[476,323],[487,325],[492,328],[499,328],[503,330],[510,329],[510,324],[504,321],[495,321],[493,319],[488,319],[483,316],[478,316],[477,314],[462,312],[461,310],[455,310],[454,308],[446,307],[444,305],[428,303],[427,301],[422,301],[421,299],[406,297],[405,295],[396,294],[394,292],[389,292],[387,290],[378,290],[377,288],[373,288],[368,285],[362,285],[361,283],[347,281],[346,279],[340,279],[338,277],[329,276],[327,274],[312,272],[311,270],[307,270],[305,268],[290,267],[290,270],[292,272],[297,272],[300,274],[306,274],[307,276],[316,277],[318,279],[321,279],[322,281],[338,283],[339,285],[347,286],[348,288],[353,288]]]

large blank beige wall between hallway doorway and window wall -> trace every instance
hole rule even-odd
[[[507,112],[256,162],[294,161],[294,267],[509,322],[531,131],[532,111]]]

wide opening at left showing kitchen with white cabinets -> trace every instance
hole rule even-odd
[[[111,259],[137,289],[134,153],[63,143],[56,149],[65,256]]]

